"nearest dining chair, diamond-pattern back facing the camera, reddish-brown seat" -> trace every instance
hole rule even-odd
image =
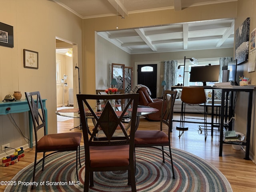
[[[77,101],[82,122],[85,148],[85,179],[84,192],[94,186],[93,174],[96,171],[128,170],[128,184],[132,192],[136,192],[134,171],[134,134],[138,106],[138,94],[112,94],[112,95],[87,95],[77,94]],[[112,99],[127,99],[128,102],[122,112],[114,111],[110,104]],[[95,112],[96,100],[106,100],[106,105],[101,112]],[[92,103],[92,105],[90,105]],[[127,114],[127,109],[132,106],[130,130],[122,126],[122,118]],[[85,108],[89,111],[84,112]],[[89,133],[88,118],[95,118],[94,130]],[[100,126],[105,140],[97,139],[97,130]],[[118,138],[114,136],[116,130],[121,131]]]

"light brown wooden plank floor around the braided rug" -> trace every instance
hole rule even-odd
[[[174,114],[174,119],[179,119],[179,114]],[[174,122],[173,132],[171,134],[171,146],[178,148],[213,164],[218,168],[228,179],[233,189],[233,192],[255,192],[256,191],[256,164],[251,160],[244,160],[245,153],[243,150],[234,150],[232,145],[223,145],[222,157],[219,156],[219,140],[220,133],[214,131],[214,135],[210,136],[208,131],[207,140],[204,140],[204,132],[200,134],[197,124],[186,124],[189,129],[184,132],[181,138],[178,137],[179,131],[176,126],[179,123]],[[89,124],[90,126],[90,124]],[[92,127],[92,125],[91,125]],[[138,129],[156,129],[160,127],[160,122],[150,122],[144,118],[140,119]],[[69,132],[73,128],[73,119],[64,122],[58,122],[58,132]],[[167,128],[166,128],[167,129]],[[80,132],[80,129],[73,129],[72,132]],[[82,140],[81,144],[83,145]],[[42,156],[38,156],[38,159]],[[26,149],[25,157],[20,162],[8,166],[0,166],[0,181],[10,181],[20,170],[34,162],[34,149]],[[0,191],[3,191],[5,186],[0,185]]]

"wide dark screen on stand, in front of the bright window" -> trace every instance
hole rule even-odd
[[[190,71],[190,82],[218,82],[220,75],[220,65],[193,66]]]

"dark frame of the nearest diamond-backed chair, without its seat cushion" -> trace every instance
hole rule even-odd
[[[128,103],[125,106],[122,114],[117,116],[116,112],[110,104],[110,100],[113,99],[127,99]],[[84,147],[85,147],[85,183],[84,183],[84,192],[88,192],[89,183],[90,186],[94,186],[93,183],[93,172],[96,171],[116,171],[116,170],[128,170],[128,184],[131,185],[132,192],[136,192],[136,183],[135,183],[135,168],[134,168],[134,134],[136,130],[136,116],[137,116],[137,106],[138,106],[138,94],[109,94],[109,95],[88,95],[88,94],[77,94],[78,106],[80,111],[80,118],[82,122],[82,130],[84,136]],[[95,103],[97,100],[106,100],[106,105],[100,112],[100,116],[97,116],[95,112]],[[93,103],[90,105],[90,103]],[[122,118],[126,113],[126,110],[132,105],[132,115],[131,115],[131,126],[130,132],[128,134],[127,130],[122,126]],[[95,128],[90,133],[90,130],[87,126],[88,111],[85,112],[85,109],[89,109],[90,118],[96,119]],[[121,128],[124,137],[113,138],[114,132],[117,127]],[[100,126],[100,129],[106,135],[106,140],[97,139],[97,129]],[[98,166],[92,167],[92,160],[90,150],[94,148],[94,154],[101,155],[102,152],[98,152],[96,148],[102,150],[102,148],[108,146],[111,147],[127,147],[129,145],[129,165],[120,165],[120,166]],[[112,148],[111,148],[112,149]],[[112,150],[113,151],[113,150]],[[116,150],[115,150],[116,151]],[[114,152],[114,151],[113,151]],[[110,152],[111,153],[111,152]],[[112,157],[109,157],[112,158]],[[113,159],[116,158],[113,156]],[[104,156],[102,156],[104,159]],[[103,163],[104,164],[104,163]]]

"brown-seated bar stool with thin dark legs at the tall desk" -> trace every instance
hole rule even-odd
[[[180,127],[177,127],[179,132],[179,138],[182,136],[184,131],[188,130],[188,128],[184,127],[185,122],[185,110],[187,105],[197,105],[204,104],[204,126],[207,127],[207,117],[206,117],[206,96],[203,87],[183,87],[181,94],[181,114],[180,114]],[[204,140],[207,137],[207,128],[204,129]]]

